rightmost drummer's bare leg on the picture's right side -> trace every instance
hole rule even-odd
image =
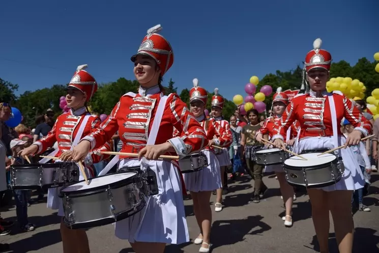
[[[352,253],[354,239],[354,220],[352,214],[351,190],[328,192],[328,205],[332,213],[334,231],[340,253]]]

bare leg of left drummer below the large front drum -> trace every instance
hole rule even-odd
[[[64,253],[90,253],[90,245],[85,230],[72,230],[61,219],[61,236]]]

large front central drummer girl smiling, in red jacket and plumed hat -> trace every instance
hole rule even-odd
[[[158,158],[175,153],[182,158],[208,145],[204,130],[179,96],[163,95],[162,76],[172,66],[173,52],[158,34],[160,30],[160,25],[149,29],[137,54],[131,57],[140,84],[138,94],[123,95],[100,127],[82,138],[73,154],[74,160],[85,157],[119,130],[121,152],[138,153],[138,158],[116,156],[109,164],[121,159],[119,168],[140,166],[141,171],[149,168],[155,173],[159,193],[145,198],[141,211],[115,223],[115,235],[129,240],[136,253],[162,253],[166,244],[189,241],[178,167]],[[184,135],[173,138],[173,128]]]

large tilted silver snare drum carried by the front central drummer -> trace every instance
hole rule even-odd
[[[136,171],[114,173],[62,187],[64,223],[71,229],[104,226],[134,215],[152,192],[150,183]],[[153,188],[156,188],[154,186]]]

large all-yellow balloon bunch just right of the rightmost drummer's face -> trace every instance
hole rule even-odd
[[[351,77],[332,77],[327,81],[327,91],[340,91],[348,98],[365,97],[366,87],[363,82]]]

